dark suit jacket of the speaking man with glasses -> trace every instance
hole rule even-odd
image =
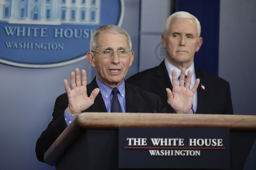
[[[87,85],[87,94],[91,95],[92,90],[98,88],[96,79]],[[166,113],[161,98],[153,93],[146,92],[136,86],[125,82],[126,112],[128,113]],[[47,129],[42,132],[36,142],[36,156],[44,162],[43,155],[55,139],[67,127],[64,119],[64,111],[68,106],[67,93],[60,95],[55,102],[53,119]],[[101,93],[96,96],[94,104],[83,112],[107,112]]]

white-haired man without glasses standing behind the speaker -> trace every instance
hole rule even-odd
[[[173,87],[172,70],[176,69],[179,77],[181,69],[186,68],[186,75],[192,71],[191,87],[196,78],[200,79],[193,98],[197,114],[233,114],[229,83],[194,64],[195,52],[203,43],[200,33],[201,26],[195,16],[184,11],[172,14],[161,36],[166,58],[159,66],[137,73],[127,82],[160,96],[167,113],[173,113],[173,108],[167,103],[165,89]]]

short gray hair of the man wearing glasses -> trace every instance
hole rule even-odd
[[[96,51],[96,49],[99,47],[99,42],[98,42],[99,35],[106,32],[109,32],[112,34],[125,35],[127,37],[129,50],[132,50],[132,40],[128,35],[128,33],[124,31],[124,29],[116,25],[102,25],[102,26],[99,26],[97,29],[95,29],[95,31],[92,33],[92,37],[90,41],[90,51]]]

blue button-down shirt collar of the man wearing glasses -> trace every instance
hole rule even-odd
[[[101,80],[96,76],[96,82],[100,89],[101,95],[107,100],[109,96],[111,95],[111,92],[113,88],[108,87],[106,84],[102,83]],[[124,86],[124,80],[122,81],[119,86],[117,86],[117,89],[119,90],[122,98],[125,98],[125,86]]]

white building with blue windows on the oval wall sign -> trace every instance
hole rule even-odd
[[[10,24],[95,25],[100,0],[0,0],[0,21]]]

